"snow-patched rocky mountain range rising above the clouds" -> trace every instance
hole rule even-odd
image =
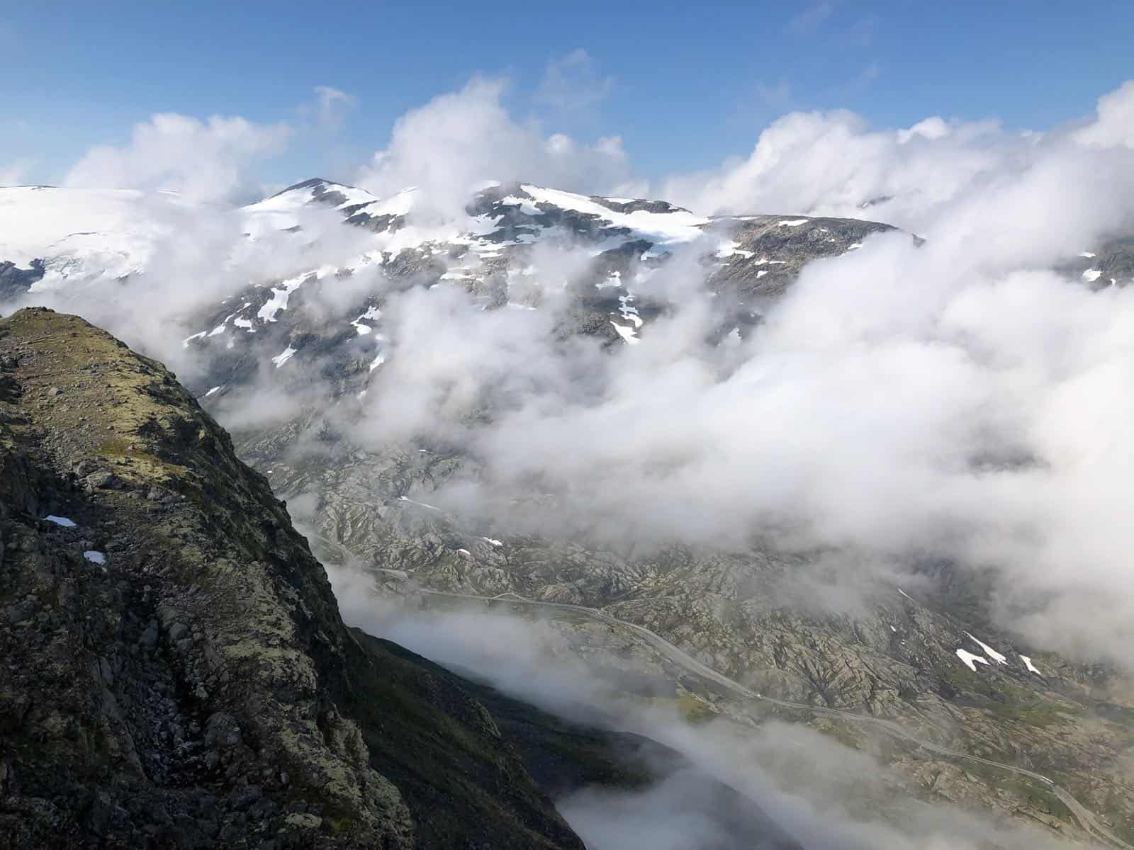
[[[719,299],[721,334],[743,334],[762,300],[806,262],[854,250],[888,229],[844,219],[703,216],[665,201],[531,184],[488,184],[457,218],[429,214],[428,202],[414,188],[378,198],[322,179],[237,210],[171,194],[0,189],[0,262],[9,263],[0,267],[2,295],[34,300],[53,290],[66,299],[92,284],[144,280],[186,250],[209,252],[208,269],[227,274],[228,290],[211,309],[179,316],[185,345],[217,365],[201,388],[208,390],[238,380],[234,368],[294,367],[315,350],[365,362],[371,372],[388,356],[384,334],[372,331],[390,281],[460,287],[484,309],[539,308],[549,294],[567,292],[575,332],[634,345],[667,308],[651,279],[675,256],[692,257]],[[336,240],[342,244],[329,249]],[[235,258],[257,245],[273,267]],[[386,282],[375,277],[367,287],[366,275]],[[306,309],[305,290],[348,278],[344,290],[354,295],[333,299],[338,315]],[[113,297],[108,289],[105,298]]]

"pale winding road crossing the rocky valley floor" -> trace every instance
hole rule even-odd
[[[315,537],[323,543],[338,547],[342,552],[347,553],[348,555],[357,560],[359,563],[366,563],[366,559],[359,558],[354,552],[344,546],[341,543],[337,543],[327,537],[323,537],[322,535],[314,534],[311,532],[308,532],[307,534],[308,536]],[[393,575],[401,580],[406,580],[406,573],[401,570],[386,570],[382,568],[371,568],[371,569],[376,569],[380,572]],[[720,685],[721,687],[728,689],[729,691],[737,694],[738,696],[742,696],[746,699],[762,702],[770,705],[778,705],[784,708],[796,708],[801,711],[806,711],[811,712],[812,714],[841,717],[843,720],[853,723],[863,723],[866,725],[873,725],[882,730],[883,732],[887,732],[888,734],[909,741],[911,743],[914,743],[917,747],[921,747],[922,749],[929,753],[936,753],[938,755],[948,756],[950,758],[963,758],[970,762],[976,762],[979,764],[988,765],[990,767],[998,767],[1002,771],[1008,771],[1010,773],[1015,773],[1022,776],[1027,776],[1029,779],[1042,782],[1070,810],[1075,821],[1088,834],[1092,834],[1095,838],[1100,838],[1103,841],[1109,842],[1112,847],[1120,848],[1122,850],[1134,850],[1134,847],[1127,844],[1125,841],[1115,835],[1108,828],[1107,824],[1103,823],[1102,818],[1100,818],[1089,808],[1083,806],[1078,800],[1076,800],[1070,794],[1069,791],[1067,791],[1065,788],[1060,785],[1057,785],[1050,777],[1044,776],[1042,773],[1036,773],[1035,771],[1030,771],[1025,767],[1017,767],[1015,765],[1005,764],[1002,762],[993,762],[990,758],[982,758],[981,756],[974,756],[968,753],[963,753],[962,750],[956,750],[951,749],[950,747],[941,746],[940,743],[933,743],[932,741],[924,741],[914,736],[902,724],[896,723],[895,721],[891,720],[885,720],[882,717],[872,717],[869,714],[855,714],[854,712],[846,712],[843,711],[841,708],[826,708],[821,706],[809,705],[807,703],[794,703],[788,699],[778,699],[776,697],[769,697],[764,696],[763,694],[758,694],[756,691],[744,687],[738,681],[728,678],[718,670],[712,669],[708,664],[697,661],[692,655],[686,653],[684,649],[678,648],[674,644],[666,640],[666,638],[651,631],[644,626],[638,626],[637,623],[633,623],[627,620],[621,620],[617,617],[611,617],[610,614],[603,613],[599,609],[586,607],[584,605],[572,605],[565,602],[539,602],[536,600],[526,600],[523,596],[517,596],[514,593],[503,593],[497,596],[474,596],[469,594],[448,593],[445,590],[431,590],[424,587],[416,588],[416,592],[424,595],[442,596],[455,600],[471,600],[483,603],[496,602],[509,605],[531,605],[533,607],[543,607],[550,610],[581,613],[600,622],[608,623],[610,626],[629,629],[631,631],[643,638],[655,651],[661,653],[663,656],[666,656],[674,663],[685,668],[686,670],[688,670],[692,673],[695,673],[696,675],[702,677],[703,679],[708,679],[709,681],[716,682],[717,685]]]

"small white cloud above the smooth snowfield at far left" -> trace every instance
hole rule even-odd
[[[245,118],[206,120],[164,112],[134,126],[130,142],[86,153],[64,184],[83,188],[164,189],[202,202],[259,194],[248,169],[284,150],[291,129]]]

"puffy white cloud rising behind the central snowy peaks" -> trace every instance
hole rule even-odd
[[[538,125],[513,119],[501,103],[505,87],[503,80],[477,78],[411,110],[362,170],[358,185],[379,196],[416,186],[430,209],[415,213],[451,219],[485,180],[532,180],[591,193],[629,178],[620,139],[583,144],[544,135]]]

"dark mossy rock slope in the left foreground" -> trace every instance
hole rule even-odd
[[[164,367],[25,309],[0,373],[0,847],[582,848]]]

